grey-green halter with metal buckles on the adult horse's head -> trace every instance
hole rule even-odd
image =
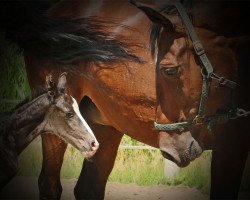
[[[172,3],[177,9],[180,14],[181,20],[186,26],[190,39],[193,43],[195,54],[197,55],[200,67],[201,67],[201,75],[202,75],[202,90],[201,90],[201,98],[200,98],[200,105],[199,110],[196,117],[191,121],[184,121],[172,124],[159,124],[157,123],[156,119],[154,122],[154,126],[157,130],[161,131],[173,131],[178,129],[187,128],[194,125],[207,125],[208,130],[211,132],[212,127],[215,124],[223,124],[228,122],[229,119],[237,119],[239,117],[247,117],[250,115],[250,111],[245,111],[243,109],[237,108],[233,105],[233,108],[229,110],[227,113],[224,114],[215,114],[212,116],[206,116],[206,104],[208,100],[209,88],[212,79],[219,82],[219,84],[228,87],[229,89],[234,92],[237,84],[234,81],[226,79],[225,77],[221,77],[216,75],[213,71],[213,66],[209,61],[205,50],[194,30],[192,22],[190,21],[184,7],[179,2]],[[234,103],[233,103],[234,104]],[[156,107],[157,109],[157,107]]]

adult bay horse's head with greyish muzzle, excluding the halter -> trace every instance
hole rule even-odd
[[[206,72],[201,70],[193,43],[178,12],[165,15],[143,4],[137,4],[137,7],[155,23],[151,32],[151,45],[156,57],[156,121],[165,125],[175,124],[176,127],[160,131],[159,146],[166,158],[186,166],[202,150],[211,148],[213,139],[204,123],[187,127],[177,124],[197,120],[203,95],[202,73]],[[212,63],[213,72],[235,80],[237,64],[229,45],[230,40],[205,28],[195,28],[195,31]],[[231,103],[231,90],[228,87],[218,81],[208,81],[205,116],[227,110]]]

